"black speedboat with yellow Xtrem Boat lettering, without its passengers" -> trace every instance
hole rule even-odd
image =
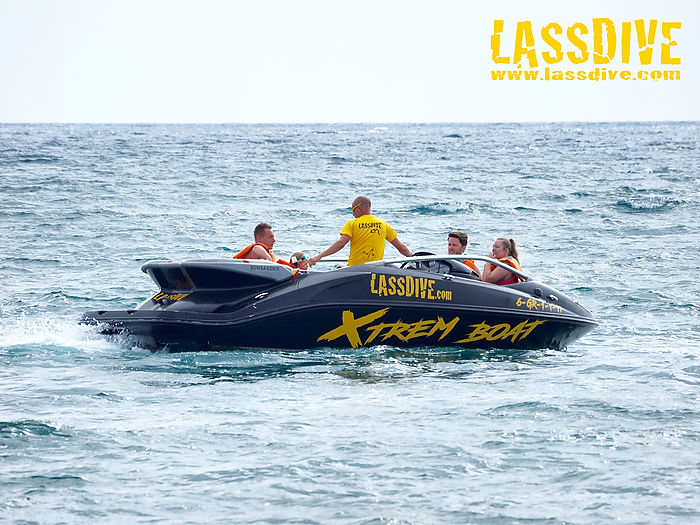
[[[464,259],[489,261],[522,281],[481,281]],[[500,261],[425,254],[328,271],[271,261],[149,261],[159,291],[133,310],[86,312],[103,334],[148,348],[300,350],[462,347],[561,349],[596,326],[563,293]]]

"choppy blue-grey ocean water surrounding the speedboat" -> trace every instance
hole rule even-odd
[[[697,523],[700,123],[0,125],[0,521]],[[150,352],[149,259],[517,240],[562,351]],[[387,248],[387,254],[394,254]]]

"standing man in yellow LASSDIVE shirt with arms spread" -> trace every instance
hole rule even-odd
[[[411,256],[409,250],[402,243],[394,229],[381,219],[371,215],[372,202],[369,197],[360,195],[352,201],[352,216],[340,230],[340,239],[331,244],[316,257],[309,259],[309,266],[313,266],[323,257],[332,255],[342,250],[350,242],[350,256],[348,266],[364,264],[370,261],[381,261],[384,258],[384,241],[389,241],[406,257]]]

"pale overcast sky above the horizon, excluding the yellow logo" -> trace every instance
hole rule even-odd
[[[681,80],[491,79],[494,19],[512,56],[517,21],[540,53],[541,27],[594,17],[618,31],[598,67],[620,69],[623,21],[681,22],[681,64],[661,66],[659,27],[647,66]],[[0,0],[0,72],[0,122],[700,120],[700,2]]]

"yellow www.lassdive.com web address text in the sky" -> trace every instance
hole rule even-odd
[[[541,74],[542,73],[542,74]],[[681,72],[674,70],[655,70],[655,71],[630,71],[630,70],[614,70],[607,68],[595,68],[589,71],[564,71],[560,69],[552,69],[545,67],[544,72],[540,70],[512,70],[501,69],[491,71],[492,80],[650,80],[658,82],[660,80],[680,80]]]

